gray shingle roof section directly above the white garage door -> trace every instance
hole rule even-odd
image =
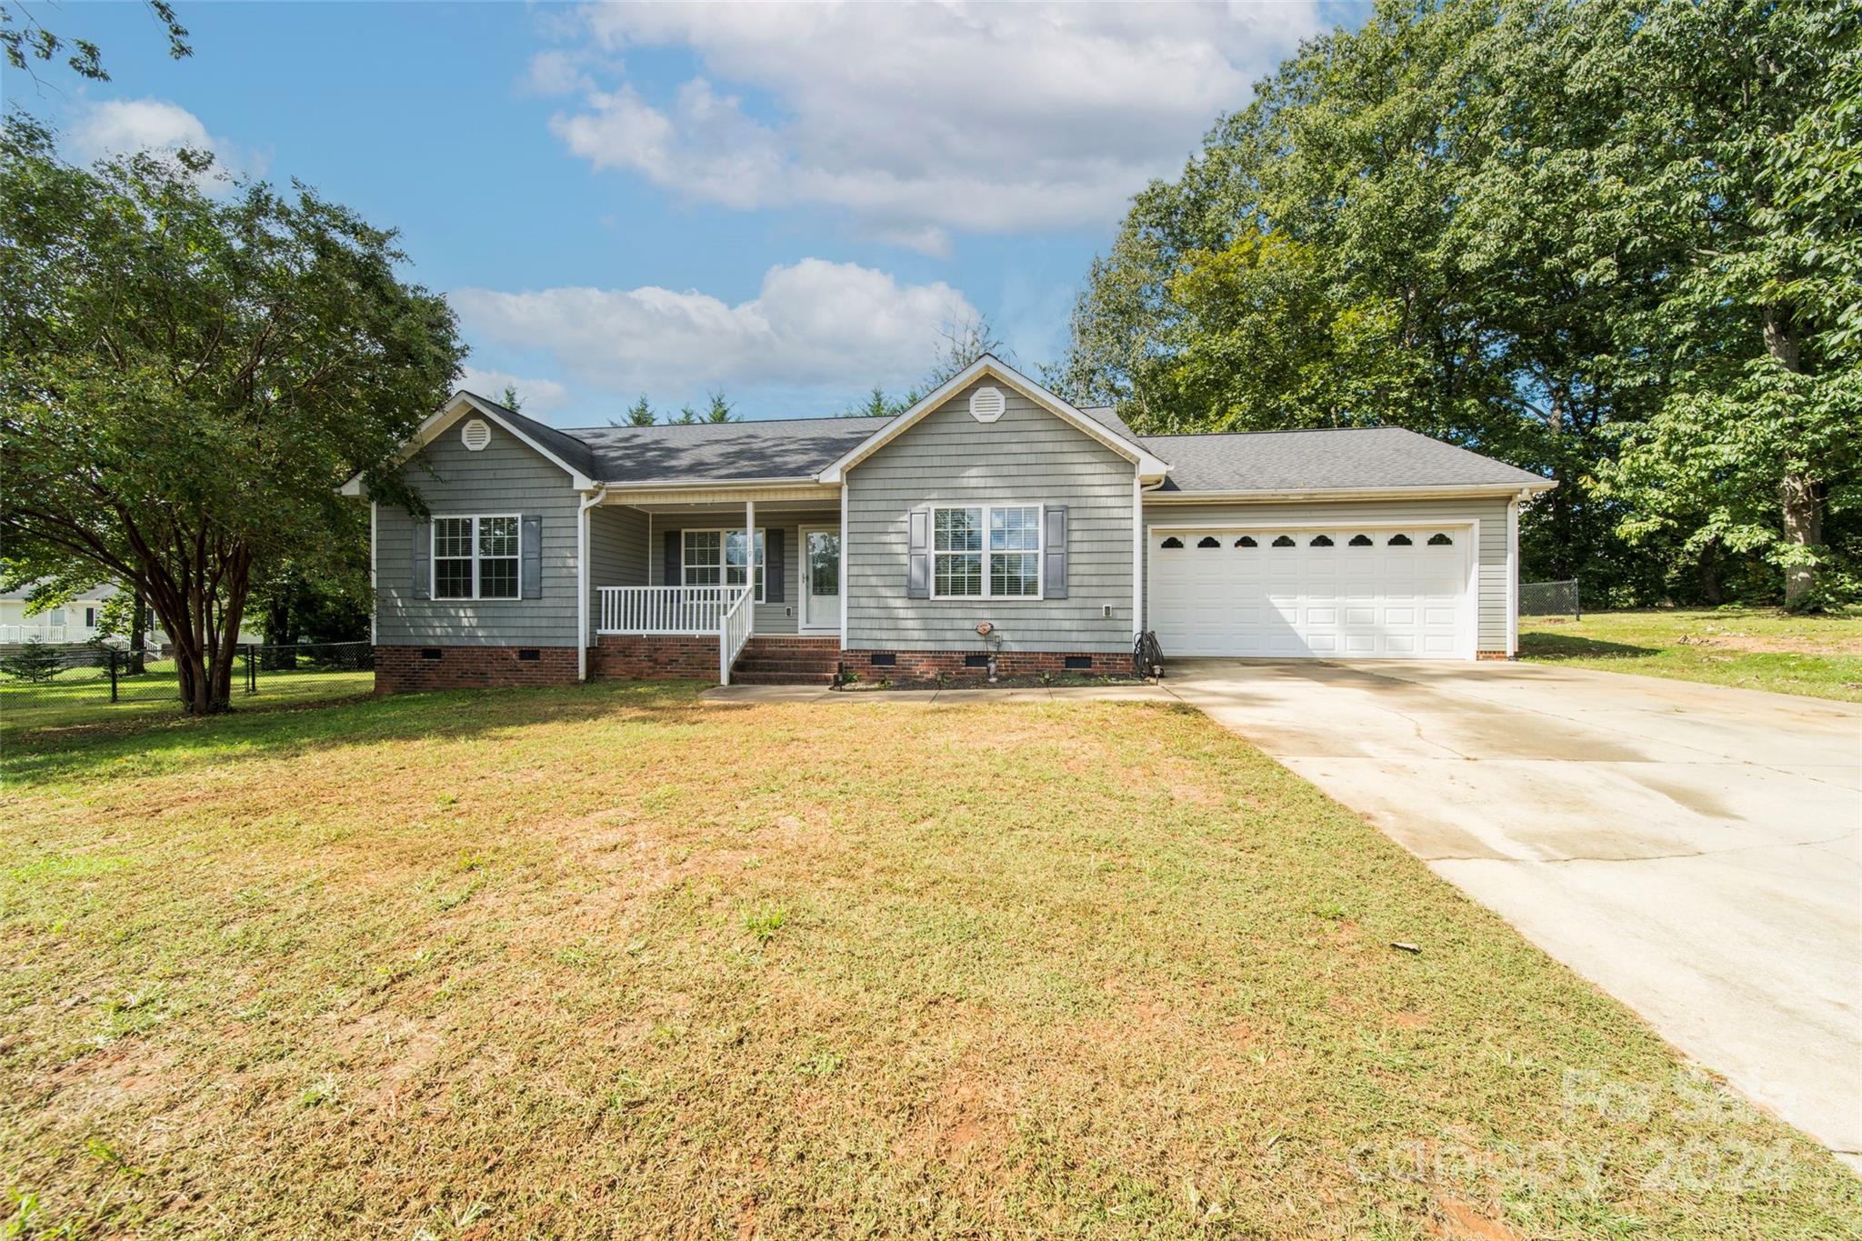
[[[1169,461],[1160,491],[1350,491],[1531,486],[1545,478],[1400,426],[1141,435]]]

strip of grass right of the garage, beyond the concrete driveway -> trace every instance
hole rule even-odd
[[[1519,657],[1534,662],[1737,685],[1862,701],[1862,616],[1771,608],[1659,608],[1521,616]]]

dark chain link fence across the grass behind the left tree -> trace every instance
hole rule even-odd
[[[317,701],[374,690],[369,642],[233,647],[233,705]],[[136,713],[181,711],[181,672],[158,651],[114,646],[0,647],[0,724],[60,727]]]

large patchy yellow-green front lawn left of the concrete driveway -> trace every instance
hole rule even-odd
[[[28,1234],[1862,1228],[1825,1152],[1182,707],[598,683],[4,763]]]

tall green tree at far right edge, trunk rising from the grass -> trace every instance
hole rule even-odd
[[[1646,184],[1683,244],[1650,335],[1666,398],[1603,476],[1633,538],[1756,553],[1814,607],[1862,484],[1862,11],[1661,6],[1635,33],[1666,143]],[[1827,584],[1825,584],[1827,586]]]

